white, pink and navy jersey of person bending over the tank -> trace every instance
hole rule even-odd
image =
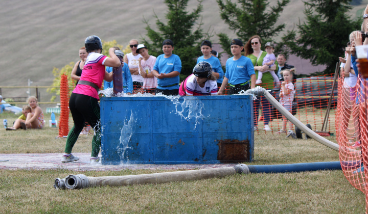
[[[204,87],[201,88],[197,83],[196,76],[191,74],[181,83],[179,88],[180,96],[185,96],[187,94],[194,96],[217,95],[217,83],[216,81],[208,79],[208,81],[205,82]]]

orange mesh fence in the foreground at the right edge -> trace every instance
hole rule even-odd
[[[368,207],[368,136],[366,97],[368,82],[358,77],[355,87],[349,87],[344,78],[338,80],[339,96],[336,112],[336,132],[342,171],[349,182],[365,194]]]

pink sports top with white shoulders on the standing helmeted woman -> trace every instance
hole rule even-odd
[[[90,52],[83,67],[83,72],[80,77],[82,81],[88,81],[96,84],[99,88],[102,86],[105,77],[104,63],[107,57],[101,53]],[[73,90],[75,94],[84,94],[96,99],[100,99],[95,88],[87,85],[77,85]]]

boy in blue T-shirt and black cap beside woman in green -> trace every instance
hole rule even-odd
[[[251,60],[242,56],[244,51],[243,42],[239,39],[233,39],[230,43],[231,51],[234,57],[226,61],[226,73],[223,79],[218,95],[222,95],[227,84],[230,86],[228,94],[238,94],[256,87],[256,73]],[[251,81],[251,86],[249,86]]]

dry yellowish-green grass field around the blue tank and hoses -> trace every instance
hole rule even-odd
[[[50,115],[45,115],[45,119]],[[0,115],[12,121],[11,114]],[[0,153],[62,152],[57,129],[0,129]],[[260,131],[255,161],[247,165],[338,161],[338,152],[314,140],[286,139]],[[90,152],[90,137],[78,139],[74,152]],[[16,139],[16,140],[13,140]],[[334,142],[334,137],[329,137]],[[4,152],[5,151],[5,152]],[[361,213],[364,194],[342,171],[247,174],[197,181],[56,191],[55,178],[69,174],[114,176],[170,170],[82,171],[0,170],[0,213]]]

